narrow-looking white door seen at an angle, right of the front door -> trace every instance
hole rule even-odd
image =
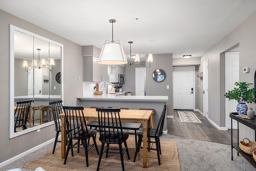
[[[208,119],[209,113],[208,113],[208,60],[206,60],[203,64],[203,110],[204,110],[204,117]]]

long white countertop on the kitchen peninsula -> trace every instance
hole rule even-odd
[[[122,93],[102,95],[86,95],[77,97],[80,100],[118,100],[118,101],[167,101],[168,96],[153,96],[153,95],[120,95]]]

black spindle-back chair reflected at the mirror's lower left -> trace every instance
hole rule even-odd
[[[14,111],[14,132],[16,132],[18,127],[22,127],[22,130],[27,129],[27,120],[31,100],[17,101],[17,106]]]

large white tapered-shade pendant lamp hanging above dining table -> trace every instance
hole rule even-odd
[[[127,64],[123,46],[119,43],[119,40],[113,40],[113,23],[115,23],[116,20],[110,19],[109,22],[112,23],[112,41],[106,40],[102,47],[98,63],[107,65]]]

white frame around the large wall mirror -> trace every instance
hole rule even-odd
[[[36,127],[31,127],[31,128],[28,128],[28,129],[25,129],[25,130],[22,130],[22,131],[18,131],[18,132],[15,132],[14,133],[14,109],[13,107],[15,106],[14,104],[14,30],[18,31],[18,32],[22,32],[24,34],[28,34],[30,36],[33,36],[35,38],[39,38],[39,39],[42,39],[42,40],[45,40],[47,42],[50,42],[52,44],[56,44],[58,46],[61,47],[61,72],[63,73],[63,64],[64,64],[64,55],[63,55],[63,44],[60,44],[58,42],[54,42],[53,40],[50,40],[48,38],[44,38],[42,36],[39,36],[37,34],[34,34],[32,32],[29,32],[27,30],[24,30],[22,28],[18,28],[16,26],[13,26],[10,24],[10,75],[9,75],[9,80],[10,80],[10,129],[9,129],[9,139],[11,138],[14,138],[14,137],[17,137],[17,136],[20,136],[20,135],[23,135],[25,133],[29,133],[29,132],[32,132],[32,131],[35,131],[37,129],[40,129],[40,128],[43,128],[43,127],[47,127],[49,125],[52,125],[54,124],[54,121],[50,121],[48,123],[44,123],[42,125],[38,125]],[[61,99],[63,101],[63,97],[64,97],[64,80],[63,80],[63,74],[61,74],[61,81],[62,81],[62,84],[61,84]]]

